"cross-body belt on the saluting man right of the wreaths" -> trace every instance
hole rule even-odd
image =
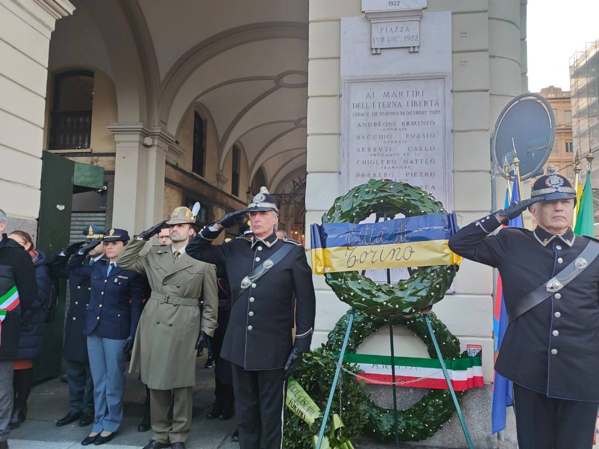
[[[591,240],[576,259],[565,266],[562,271],[512,305],[510,310],[507,311],[508,324],[571,283],[580,273],[585,271],[586,267],[591,265],[593,260],[597,259],[597,256],[599,256],[599,243]]]

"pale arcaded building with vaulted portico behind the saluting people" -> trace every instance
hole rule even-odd
[[[283,229],[305,239],[309,251],[306,226],[320,223],[356,181],[352,163],[367,160],[351,156],[352,139],[360,137],[350,99],[362,87],[377,95],[422,93],[426,98],[410,99],[415,110],[438,104],[431,114],[437,111],[439,119],[410,122],[437,128],[414,150],[418,159],[401,162],[409,169],[398,169],[409,174],[398,178],[432,190],[465,225],[489,212],[495,120],[527,91],[526,0],[413,0],[407,8],[380,0],[0,3],[6,11],[0,14],[0,88],[7,93],[0,98],[7,162],[0,166],[0,188],[14,192],[0,208],[11,229],[38,230],[40,238],[46,238],[47,214],[67,212],[103,213],[107,226],[133,235],[174,207],[199,201],[208,223],[244,207],[266,185],[281,205]],[[371,26],[379,19],[418,22],[418,32],[402,35],[412,44],[394,46],[399,37],[390,31],[375,45]],[[402,132],[406,139],[416,135]],[[428,138],[437,143],[427,144]],[[427,148],[435,157],[420,154]],[[50,161],[76,163],[69,204],[56,199],[58,187],[52,190],[51,180],[57,186],[63,180]],[[419,168],[418,161],[435,169]],[[90,166],[102,170],[101,185],[86,181]],[[386,177],[380,173],[359,175]],[[418,177],[434,179],[428,186]],[[347,306],[322,277],[314,284],[316,346]],[[435,305],[464,349],[483,348],[487,385],[465,399],[470,416],[482,420],[473,435],[481,448],[497,446],[486,424],[493,289],[491,269],[465,260],[455,294]],[[426,357],[406,329],[397,329],[395,348],[398,355]],[[370,336],[361,351],[388,354],[388,330]],[[408,402],[419,394],[404,391]],[[381,401],[389,398],[379,393],[373,394]],[[425,443],[464,447],[460,435],[453,420]]]

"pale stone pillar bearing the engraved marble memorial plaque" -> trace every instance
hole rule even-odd
[[[489,213],[489,138],[503,105],[526,84],[525,18],[519,0],[310,0],[307,225],[370,178],[422,187],[455,210],[461,226]],[[503,197],[501,179],[497,185]],[[323,277],[314,286],[316,347],[347,305]],[[434,311],[463,350],[483,348],[486,385],[468,392],[465,414],[475,447],[497,447],[490,433],[492,270],[464,260],[453,287]],[[428,357],[413,334],[401,326],[395,332],[396,355]],[[389,354],[388,335],[380,329],[359,352]],[[368,389],[391,406],[390,387]],[[403,408],[423,393],[399,392]],[[422,444],[465,447],[458,420]]]

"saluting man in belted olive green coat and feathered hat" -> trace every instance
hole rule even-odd
[[[212,336],[216,329],[218,290],[214,265],[185,253],[195,223],[189,208],[176,208],[166,222],[170,226],[170,245],[143,251],[147,239],[158,233],[164,223],[129,241],[117,264],[145,274],[152,287],[152,296],[137,327],[129,368],[131,373],[141,372],[141,381],[150,389],[154,436],[146,448],[183,449],[191,428],[196,353],[206,335]],[[202,292],[204,307],[200,324]],[[171,392],[172,421],[167,417]]]

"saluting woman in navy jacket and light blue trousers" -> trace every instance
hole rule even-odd
[[[100,445],[110,441],[123,417],[126,354],[133,347],[137,323],[143,307],[143,287],[134,272],[116,265],[116,259],[129,241],[124,229],[110,229],[102,239],[108,261],[81,265],[98,241],[80,248],[69,260],[68,271],[90,278],[91,292],[86,311],[89,367],[93,380],[95,417],[92,432],[81,442]]]

